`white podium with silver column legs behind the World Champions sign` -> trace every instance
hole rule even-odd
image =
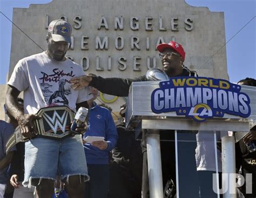
[[[241,92],[246,93],[251,101],[251,115],[242,118],[225,114],[221,118],[208,118],[205,122],[196,122],[192,118],[177,116],[176,112],[155,114],[151,110],[151,94],[159,88],[159,81],[133,82],[130,87],[125,115],[126,128],[141,122],[142,130],[147,130],[147,160],[149,171],[150,197],[164,197],[161,171],[160,130],[187,131],[236,131],[245,135],[256,121],[256,88],[241,86]],[[237,136],[240,139],[243,135]],[[237,139],[238,141],[239,139]],[[176,139],[177,141],[177,139]],[[221,137],[223,173],[235,173],[235,136]],[[176,143],[177,155],[177,143]],[[176,156],[177,159],[177,156]],[[178,163],[178,161],[176,161]],[[176,166],[177,171],[177,166]],[[177,177],[178,179],[178,177]],[[176,180],[177,181],[177,180]],[[179,182],[177,182],[177,198],[179,197]],[[225,183],[223,183],[225,185]],[[231,186],[227,188],[230,189]],[[224,194],[224,198],[236,197],[235,194]]]

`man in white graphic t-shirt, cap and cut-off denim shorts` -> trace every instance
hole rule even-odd
[[[39,109],[65,105],[76,111],[92,97],[87,89],[76,91],[70,87],[71,77],[84,75],[83,68],[65,56],[71,44],[71,31],[71,25],[65,20],[53,20],[46,36],[47,50],[19,60],[8,82],[5,101],[8,111],[18,121],[22,135],[31,138],[25,143],[23,185],[36,186],[40,198],[52,197],[57,175],[66,183],[71,198],[83,197],[84,181],[89,180],[80,134],[56,139],[33,138],[35,129],[32,123],[40,119],[36,115]],[[24,112],[17,103],[22,91]],[[66,133],[69,123],[57,109],[53,111],[48,119],[52,135],[60,129]],[[76,130],[85,131],[85,124]]]

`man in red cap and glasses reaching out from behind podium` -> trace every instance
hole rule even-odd
[[[161,59],[161,62],[163,64],[163,70],[169,77],[176,77],[176,76],[197,76],[196,72],[193,72],[186,68],[183,65],[183,62],[185,61],[185,51],[183,47],[174,42],[170,41],[170,43],[166,44],[159,44],[157,46]],[[105,94],[110,95],[116,95],[125,97],[129,95],[129,88],[132,82],[138,82],[138,81],[147,81],[146,75],[139,76],[134,79],[122,79],[117,77],[111,77],[111,78],[103,78],[100,76],[89,76],[84,75],[80,77],[74,77],[71,79],[72,88],[77,90],[80,88],[84,88],[87,86],[92,86],[97,88],[99,91]],[[186,135],[186,134],[185,134]],[[185,164],[190,164],[193,168],[193,173],[191,172],[190,168],[183,167],[182,170],[179,168],[179,175],[180,172],[182,172],[184,178],[186,178],[185,182],[190,186],[187,190],[181,190],[182,192],[179,193],[180,197],[199,197],[199,187],[197,185],[193,185],[196,182],[190,181],[190,178],[194,179],[196,178],[196,160],[194,158],[195,149],[196,149],[196,136],[194,134],[192,135],[192,146],[184,145],[183,143],[179,143],[180,146],[188,148],[188,150],[191,152],[188,155],[192,157],[191,159],[193,162],[186,161],[186,157],[184,155],[187,155],[187,149],[182,150],[178,148],[178,151],[181,153],[185,153],[183,157],[179,158],[179,164],[185,162]],[[146,154],[146,142],[145,142],[145,134],[143,134],[143,141],[142,141],[142,150],[143,150],[143,168],[146,169],[147,172],[147,154]],[[161,140],[174,140],[174,131],[164,133],[160,133],[160,139]],[[182,145],[183,144],[183,145]],[[187,143],[189,144],[189,143]],[[181,155],[181,154],[180,154]],[[161,142],[161,162],[162,162],[162,171],[163,171],[163,183],[170,183],[167,182],[170,178],[175,181],[175,149],[174,149],[174,142]],[[145,171],[143,171],[145,173]],[[143,185],[142,185],[142,191],[143,191],[143,197],[149,197],[149,189],[148,189],[148,178],[147,174],[143,175]],[[170,181],[170,180],[169,180]],[[180,182],[179,182],[180,183]],[[180,185],[182,186],[182,185]],[[186,186],[187,187],[187,186]],[[166,188],[166,192],[172,192],[171,189]],[[175,188],[175,187],[174,187]],[[164,192],[166,194],[166,192]],[[183,195],[182,195],[183,194]],[[182,196],[181,196],[182,195]],[[174,195],[165,195],[165,197],[173,197]]]

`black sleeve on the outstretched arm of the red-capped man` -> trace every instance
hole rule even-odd
[[[132,82],[146,81],[146,76],[140,76],[135,79],[121,79],[118,77],[103,78],[92,76],[90,86],[97,88],[104,94],[114,96],[128,96],[129,88]]]

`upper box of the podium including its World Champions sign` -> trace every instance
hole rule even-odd
[[[206,83],[200,83],[200,86],[180,83],[190,80],[188,83],[193,85],[196,81],[191,79],[205,82],[208,78],[180,77],[160,83],[133,82],[127,102],[126,128],[132,122],[142,121],[144,129],[156,129],[157,126],[157,129],[174,130],[250,130],[250,125],[256,120],[255,87],[218,79],[208,79],[208,86]],[[171,84],[173,82],[177,86]]]

